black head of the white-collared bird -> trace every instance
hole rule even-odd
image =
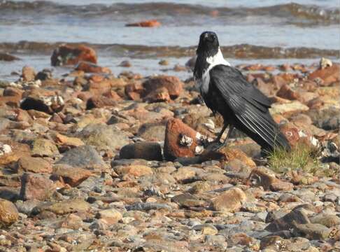
[[[204,54],[206,56],[215,55],[218,52],[218,37],[213,31],[204,31],[199,37],[199,45],[197,47],[197,55]]]

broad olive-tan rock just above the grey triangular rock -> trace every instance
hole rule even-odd
[[[95,146],[98,151],[112,151],[129,144],[129,138],[115,125],[90,124],[78,135],[85,144]]]

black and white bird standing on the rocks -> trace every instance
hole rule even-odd
[[[219,148],[226,145],[232,130],[236,128],[262,146],[264,151],[273,151],[274,148],[289,151],[288,140],[269,113],[269,98],[248,83],[242,73],[223,58],[215,32],[201,34],[196,52],[194,80],[206,106],[214,114],[220,113],[224,120],[224,126],[214,141]],[[227,138],[220,144],[228,125]]]

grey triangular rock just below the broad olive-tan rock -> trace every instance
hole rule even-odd
[[[71,165],[72,167],[98,169],[107,168],[106,163],[92,146],[79,146],[66,151],[57,164]]]

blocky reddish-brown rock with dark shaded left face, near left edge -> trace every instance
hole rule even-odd
[[[48,177],[29,173],[22,175],[20,189],[22,200],[46,200],[54,191],[55,186]]]

